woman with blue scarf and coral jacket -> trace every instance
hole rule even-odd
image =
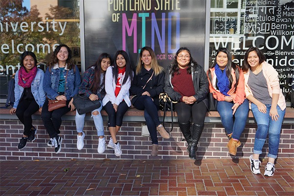
[[[207,76],[210,93],[218,100],[217,110],[230,140],[227,144],[229,153],[235,156],[237,147],[241,146],[239,139],[249,112],[249,103],[245,98],[244,74],[241,68],[232,62],[230,51],[220,48],[215,62],[207,71]]]

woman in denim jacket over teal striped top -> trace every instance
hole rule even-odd
[[[55,147],[55,153],[61,150],[60,134],[61,117],[75,109],[73,96],[77,94],[81,83],[79,70],[72,61],[72,51],[67,45],[59,45],[51,57],[46,70],[43,88],[49,99],[66,100],[67,106],[48,111],[48,100],[42,110],[42,120],[50,136],[49,147]]]

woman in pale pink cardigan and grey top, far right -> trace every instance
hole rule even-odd
[[[242,69],[245,76],[246,98],[250,101],[257,123],[253,154],[249,157],[250,169],[254,174],[260,174],[259,155],[269,135],[269,160],[264,175],[272,176],[286,112],[286,101],[280,90],[278,73],[266,62],[261,50],[251,47],[246,51],[244,60]]]

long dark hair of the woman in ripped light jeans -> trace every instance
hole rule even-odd
[[[96,93],[98,89],[101,88],[100,86],[100,76],[102,73],[104,73],[104,71],[101,69],[101,62],[102,62],[102,59],[103,58],[109,58],[109,60],[111,60],[111,56],[110,54],[108,53],[102,53],[98,56],[98,60],[96,61],[95,64],[91,65],[88,69],[92,69],[91,67],[95,66],[95,69],[94,69],[94,80],[90,86],[90,90],[93,92],[93,93]],[[104,80],[105,80],[105,74],[104,74],[104,77],[103,77],[103,83],[104,83]]]

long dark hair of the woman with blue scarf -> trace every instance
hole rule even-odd
[[[218,54],[220,52],[225,53],[227,55],[227,57],[228,57],[228,63],[225,66],[225,73],[226,73],[226,76],[229,78],[230,85],[232,85],[232,83],[233,83],[233,76],[231,74],[232,68],[235,71],[235,77],[236,77],[235,91],[236,91],[237,86],[238,86],[238,83],[239,83],[239,77],[240,77],[239,71],[241,70],[241,68],[232,61],[232,54],[231,54],[230,50],[228,50],[226,48],[219,48],[218,51],[217,51],[217,55],[216,56],[218,56]],[[209,66],[209,68],[210,69],[211,68],[214,68],[216,66],[216,64],[217,64],[217,58]],[[209,78],[210,81],[212,81],[211,73],[210,72],[208,72],[208,78]]]

